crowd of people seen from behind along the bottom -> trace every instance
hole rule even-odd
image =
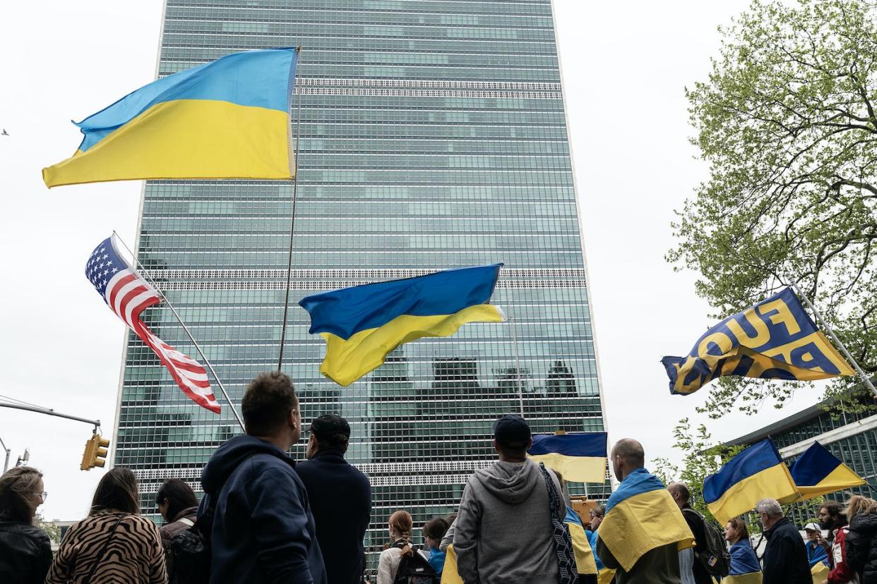
[[[34,525],[47,496],[42,475],[30,467],[4,473],[0,582],[367,582],[363,540],[372,493],[367,476],[345,460],[346,420],[334,414],[314,419],[307,460],[296,464],[287,453],[301,438],[302,419],[288,376],[257,376],[241,411],[246,433],[210,457],[200,503],[186,482],[160,485],[154,499],[164,519],[160,528],[141,515],[132,471],[112,468],[98,483],[88,516],[68,529],[53,555],[46,532]],[[724,526],[725,544],[691,506],[686,484],[671,483],[664,492],[660,483],[668,498],[641,499],[633,508],[636,523],[687,525],[688,545],[653,545],[631,562],[617,542],[638,537],[637,525],[625,524],[630,533],[616,538],[606,532],[618,529],[617,518],[607,519],[618,517],[617,500],[591,507],[583,522],[562,475],[527,457],[531,429],[523,418],[496,420],[493,440],[498,461],[470,476],[457,513],[419,528],[424,545],[414,545],[408,511],[387,518],[390,543],[381,552],[376,584],[709,584],[721,580],[722,562],[725,574],[760,573],[766,584],[810,584],[817,565],[824,566],[827,583],[877,584],[873,499],[852,496],[845,507],[822,503],[819,523],[805,526],[806,543],[780,503],[759,501],[766,540],[759,558],[744,517]],[[645,470],[636,440],[617,442],[610,461],[619,491],[658,481]],[[652,509],[642,501],[669,507]]]

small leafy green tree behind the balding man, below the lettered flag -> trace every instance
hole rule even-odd
[[[704,425],[691,428],[688,418],[681,419],[673,429],[674,448],[682,451],[682,464],[678,467],[665,458],[655,459],[653,472],[658,475],[665,484],[681,481],[688,486],[691,493],[691,506],[698,510],[709,521],[717,523],[715,517],[709,512],[706,503],[703,502],[703,481],[709,475],[718,472],[722,465],[730,461],[741,450],[742,446],[726,447],[715,444],[712,435]]]

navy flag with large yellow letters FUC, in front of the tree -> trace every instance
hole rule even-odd
[[[670,393],[682,395],[720,376],[810,381],[855,375],[791,288],[710,328],[688,356],[661,362]]]

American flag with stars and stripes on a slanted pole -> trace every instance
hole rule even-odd
[[[140,313],[149,306],[159,304],[161,296],[122,259],[115,238],[107,237],[95,248],[85,264],[85,277],[89,278],[111,311],[125,320],[125,324],[140,340],[153,349],[183,393],[197,405],[219,413],[219,404],[213,397],[207,371],[201,363],[161,341],[140,320]]]

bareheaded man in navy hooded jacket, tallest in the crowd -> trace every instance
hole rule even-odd
[[[210,583],[326,584],[308,493],[286,454],[302,434],[292,381],[263,373],[240,406],[246,434],[219,447],[201,475],[198,517],[217,497]]]

